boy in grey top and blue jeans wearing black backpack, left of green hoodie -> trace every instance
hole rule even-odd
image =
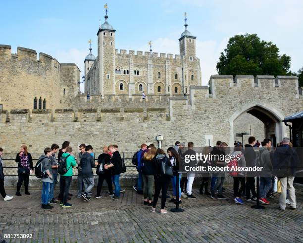
[[[51,209],[53,206],[49,204],[50,198],[50,185],[53,183],[52,169],[51,169],[51,148],[46,147],[44,154],[39,157],[42,160],[42,171],[44,171],[48,177],[42,178],[42,193],[41,193],[41,207],[43,209]]]

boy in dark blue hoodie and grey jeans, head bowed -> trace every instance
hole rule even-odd
[[[84,198],[84,201],[91,200],[92,189],[94,188],[95,185],[93,168],[96,167],[98,163],[97,162],[95,163],[92,153],[93,153],[93,147],[91,145],[86,146],[85,153],[82,154],[80,160],[80,166],[82,168],[82,177],[84,183],[84,193],[82,193],[81,195]]]

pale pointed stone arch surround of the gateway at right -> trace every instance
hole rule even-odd
[[[261,101],[254,101],[252,103],[242,106],[235,111],[229,118],[230,124],[230,145],[234,144],[234,121],[244,113],[249,113],[264,123],[264,136],[267,138],[274,138],[273,140],[282,141],[285,136],[286,127],[282,120],[284,115],[276,108]],[[275,141],[273,141],[275,142]],[[275,144],[273,143],[275,146]]]

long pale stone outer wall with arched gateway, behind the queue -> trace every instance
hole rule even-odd
[[[208,87],[193,86],[187,97],[159,96],[161,100],[157,100],[152,96],[143,101],[136,96],[96,96],[96,103],[75,102],[69,109],[44,113],[3,110],[1,146],[7,153],[22,144],[41,152],[52,143],[60,145],[68,140],[74,149],[81,143],[91,144],[97,151],[117,144],[120,151],[134,151],[142,143],[157,144],[158,134],[163,135],[165,149],[176,140],[193,141],[195,146],[208,145],[208,139],[210,145],[217,140],[230,145],[234,120],[248,110],[258,108],[264,116],[276,119],[278,138],[288,134],[288,128],[279,121],[303,107],[296,77],[237,77],[234,81],[232,76],[215,75],[210,80],[212,94],[208,94]]]

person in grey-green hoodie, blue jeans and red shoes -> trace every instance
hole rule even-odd
[[[271,148],[271,140],[264,139],[262,147],[260,147],[260,166],[263,167],[260,177],[260,203],[269,204],[266,200],[266,194],[269,192],[272,184],[272,163],[270,161],[269,149]]]

